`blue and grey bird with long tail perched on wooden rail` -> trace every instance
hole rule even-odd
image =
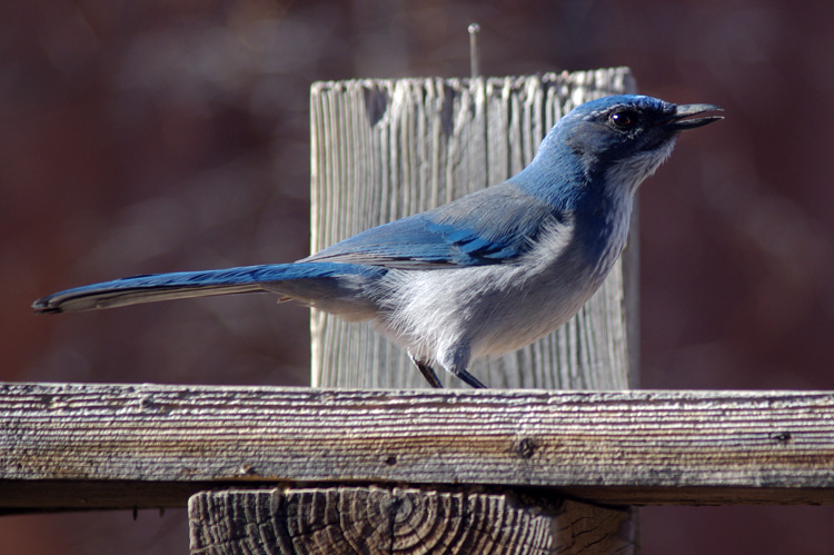
[[[518,349],[573,317],[626,242],[634,192],[681,131],[722,119],[712,105],[645,96],[584,103],[547,133],[507,181],[360,232],[292,264],[135,276],[56,293],[38,313],[156,300],[274,293],[370,320],[408,349],[433,387],[433,366],[471,387],[470,361]]]

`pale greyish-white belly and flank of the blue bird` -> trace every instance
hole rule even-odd
[[[573,226],[545,231],[515,264],[393,270],[375,324],[418,357],[455,345],[473,358],[520,348],[567,321],[602,284]]]

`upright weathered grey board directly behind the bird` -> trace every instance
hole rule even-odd
[[[634,92],[627,68],[486,79],[317,82],[311,111],[311,248],[434,208],[523,169],[558,118]],[[636,235],[610,277],[557,333],[471,371],[490,387],[625,389],[636,384]],[[626,313],[629,316],[626,317]],[[628,320],[628,321],[626,321]],[[369,325],[315,311],[312,384],[426,387],[405,353]],[[632,348],[629,349],[629,344]],[[632,357],[629,359],[629,357]],[[361,368],[361,371],[351,371]],[[448,376],[450,387],[461,387]]]

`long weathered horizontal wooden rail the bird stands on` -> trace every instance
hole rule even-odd
[[[99,498],[138,482],[316,480],[533,486],[612,504],[834,501],[831,392],[4,384],[0,429],[7,509],[95,508],[68,498],[87,480]]]

